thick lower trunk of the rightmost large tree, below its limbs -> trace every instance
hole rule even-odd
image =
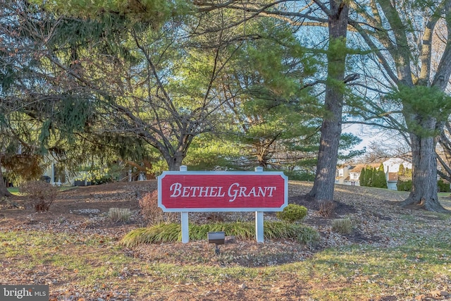
[[[435,118],[428,117],[422,122],[424,129],[434,130]],[[412,143],[412,191],[402,202],[403,207],[426,209],[428,211],[447,212],[438,202],[437,195],[437,159],[435,145],[437,142],[432,135],[421,137],[410,134]]]

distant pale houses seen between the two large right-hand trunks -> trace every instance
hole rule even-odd
[[[400,158],[391,158],[382,162],[383,170],[385,172],[385,178],[387,179],[387,187],[390,190],[397,190],[398,171],[402,164],[404,168],[412,169],[412,163]],[[355,165],[342,165],[337,167],[335,176],[336,184],[343,185],[360,185],[360,173],[362,169],[367,167],[379,168],[381,163],[376,164],[355,164]]]

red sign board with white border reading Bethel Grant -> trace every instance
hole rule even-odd
[[[288,178],[280,172],[165,171],[158,202],[163,211],[282,211]]]

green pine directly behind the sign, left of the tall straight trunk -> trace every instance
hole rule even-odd
[[[242,149],[230,167],[280,168],[316,159],[319,123],[311,116],[319,104],[303,89],[314,59],[280,20],[248,24],[247,32],[261,38],[242,42],[219,82],[228,89],[218,88],[226,99],[223,112],[230,116],[220,130],[228,127],[223,137]]]

